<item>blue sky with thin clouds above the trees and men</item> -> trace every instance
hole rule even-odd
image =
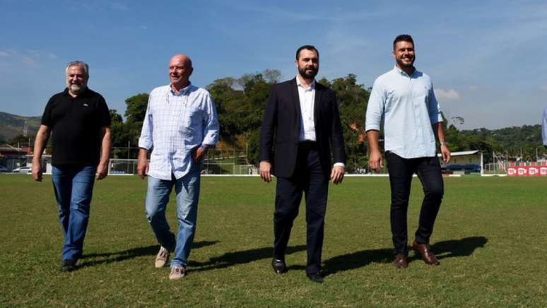
[[[265,69],[293,78],[296,49],[314,45],[317,78],[353,73],[369,88],[393,68],[401,33],[459,129],[540,124],[547,105],[547,1],[0,0],[0,29],[0,112],[24,116],[64,90],[75,59],[120,114],[127,97],[169,83],[177,53],[205,87]]]

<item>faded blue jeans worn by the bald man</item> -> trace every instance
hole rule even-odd
[[[146,191],[146,218],[152,227],[155,238],[161,246],[175,251],[171,267],[187,266],[190,249],[196,232],[197,204],[199,199],[199,171],[201,164],[194,164],[190,172],[180,179],[156,179],[148,176]],[[177,195],[177,220],[179,232],[177,237],[171,232],[165,219],[165,210],[169,202],[172,187]]]

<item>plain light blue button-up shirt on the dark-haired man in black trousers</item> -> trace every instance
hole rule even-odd
[[[425,73],[411,76],[397,66],[378,77],[368,100],[365,130],[380,131],[384,119],[384,149],[401,158],[437,155],[432,124],[442,122],[433,83]]]

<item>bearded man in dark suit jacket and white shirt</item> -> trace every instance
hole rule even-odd
[[[329,179],[342,182],[346,152],[334,91],[315,81],[319,52],[305,45],[296,52],[298,75],[272,85],[260,131],[260,177],[277,177],[274,213],[276,273],[286,272],[285,251],[305,194],[307,222],[306,275],[322,283],[321,253]],[[331,152],[334,166],[331,168]]]

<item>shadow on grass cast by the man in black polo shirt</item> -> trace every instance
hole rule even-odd
[[[194,242],[192,249],[210,246],[218,243],[218,241],[201,241]],[[100,254],[84,254],[81,259],[95,259],[90,261],[83,261],[78,264],[78,268],[86,268],[88,266],[98,266],[99,264],[120,262],[127,259],[134,259],[139,256],[154,256],[158,253],[160,247],[158,245],[151,245],[146,247],[137,247],[122,251],[103,252]]]

